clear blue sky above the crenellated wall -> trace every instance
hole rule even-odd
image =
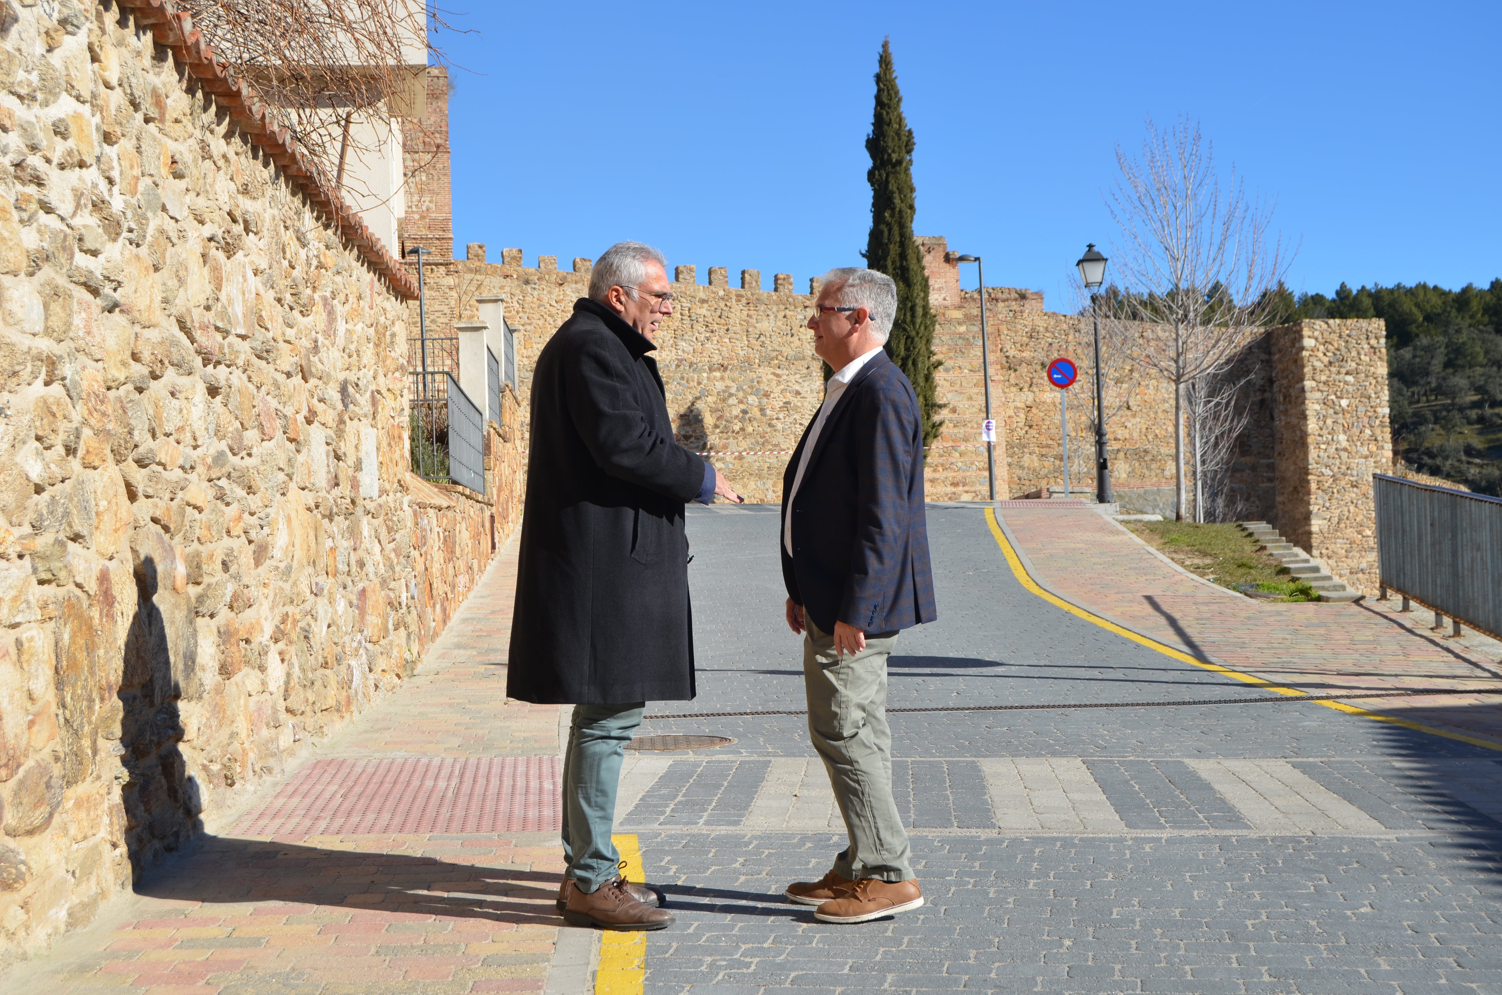
[[[1050,310],[1149,116],[1277,203],[1295,290],[1502,277],[1494,2],[448,5],[458,253],[634,237],[769,289],[859,265],[891,36],[918,233]]]

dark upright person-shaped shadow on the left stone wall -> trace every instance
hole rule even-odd
[[[192,601],[173,591],[174,564],[147,553],[135,562],[137,609],[120,673],[120,765],[125,846],[137,879],[164,852],[203,831],[203,797],[185,770],[179,700],[195,687]],[[164,610],[165,609],[165,610]],[[176,651],[176,654],[174,654]]]

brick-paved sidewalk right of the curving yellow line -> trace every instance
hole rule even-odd
[[[1454,687],[1457,694],[1356,703],[1502,749],[1502,694],[1463,693],[1502,687],[1493,640],[1446,639],[1425,628],[1431,613],[1401,613],[1395,598],[1353,604],[1242,598],[1175,570],[1089,505],[1026,507],[1030,504],[1002,502],[996,514],[1026,553],[1035,579],[1080,607],[1305,691]]]

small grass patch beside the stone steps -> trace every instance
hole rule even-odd
[[[1290,577],[1287,568],[1259,543],[1230,523],[1123,522],[1149,546],[1190,573],[1242,594],[1277,595],[1272,601],[1319,601],[1307,582]]]

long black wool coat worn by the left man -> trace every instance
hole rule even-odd
[[[673,440],[652,349],[581,298],[538,356],[511,697],[694,697],[683,504],[698,496],[704,461]]]

